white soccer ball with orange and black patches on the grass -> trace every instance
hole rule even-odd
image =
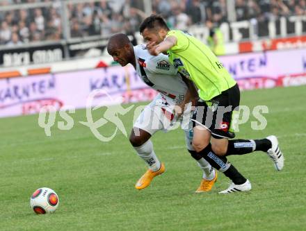
[[[30,199],[30,206],[36,214],[51,213],[58,207],[58,196],[49,188],[40,188],[34,191]]]

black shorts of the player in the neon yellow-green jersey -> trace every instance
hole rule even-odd
[[[238,85],[222,92],[210,101],[200,99],[193,112],[193,127],[207,128],[216,139],[234,138],[233,119],[238,119],[240,91]]]

